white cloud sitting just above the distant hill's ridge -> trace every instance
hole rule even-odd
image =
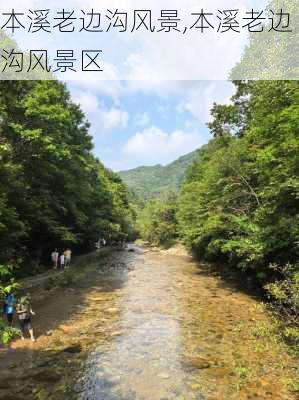
[[[152,126],[137,132],[122,148],[122,154],[129,165],[167,164],[187,154],[204,143],[196,132],[164,132]]]

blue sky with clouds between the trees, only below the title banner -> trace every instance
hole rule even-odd
[[[94,152],[115,171],[167,164],[210,138],[213,102],[228,102],[226,81],[75,81],[73,99],[91,123]]]

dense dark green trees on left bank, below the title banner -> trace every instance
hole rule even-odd
[[[126,188],[92,155],[88,128],[63,84],[0,82],[0,265],[130,233]]]

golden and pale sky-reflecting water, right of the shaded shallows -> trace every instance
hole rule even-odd
[[[89,355],[80,400],[291,398],[268,377],[271,357],[248,346],[254,299],[188,257],[134,250],[116,331]]]

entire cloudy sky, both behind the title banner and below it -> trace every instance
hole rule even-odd
[[[4,0],[0,0],[0,4]],[[5,8],[19,10],[20,2],[5,2]],[[50,4],[49,4],[50,3]],[[200,7],[263,9],[266,0],[202,0]],[[28,9],[132,11],[141,7],[156,13],[177,9],[190,17],[197,0],[27,0]],[[3,8],[4,9],[4,8]],[[101,35],[101,34],[100,34]],[[115,171],[139,165],[167,164],[210,139],[206,123],[213,102],[227,103],[233,85],[226,79],[240,59],[248,41],[246,33],[225,35],[197,32],[186,36],[152,36],[147,32],[111,35],[41,34],[18,32],[14,37],[24,50],[47,48],[103,49],[104,72],[61,76],[91,123],[94,152]],[[42,47],[41,47],[42,46]],[[89,47],[90,46],[90,47]],[[75,79],[75,80],[74,80]],[[205,80],[197,80],[205,79]]]

